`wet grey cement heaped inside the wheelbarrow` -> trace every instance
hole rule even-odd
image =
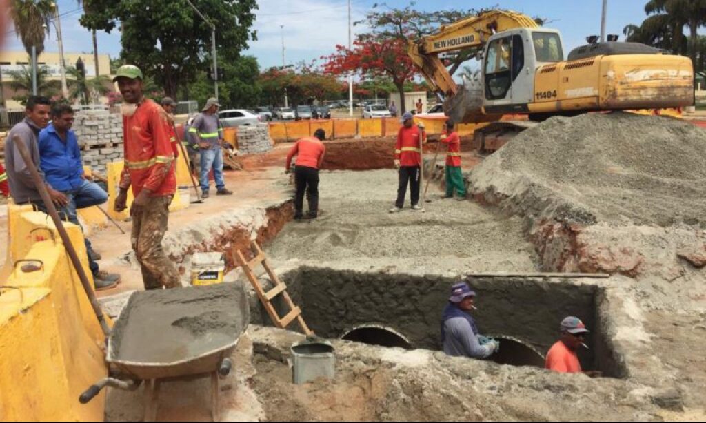
[[[250,321],[243,286],[134,293],[115,324],[112,360],[169,363],[237,341]]]

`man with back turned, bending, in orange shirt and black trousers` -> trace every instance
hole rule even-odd
[[[287,154],[286,171],[292,164],[292,158],[297,156],[297,166],[294,169],[294,180],[297,183],[297,195],[294,197],[294,219],[304,217],[304,192],[309,191],[309,219],[318,217],[318,169],[323,164],[326,147],[323,140],[326,132],[317,129],[313,137],[304,137],[294,143]]]

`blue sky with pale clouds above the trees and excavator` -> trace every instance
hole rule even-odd
[[[373,0],[352,0],[353,20],[360,20],[373,4]],[[645,18],[646,0],[609,0],[608,33],[623,33],[629,23],[639,24]],[[68,13],[61,19],[64,31],[64,50],[71,52],[92,52],[89,32],[78,24],[80,11],[76,11],[75,0],[58,0],[60,12]],[[345,0],[259,0],[256,29],[258,41],[250,43],[244,54],[256,56],[262,68],[282,64],[282,33],[285,36],[285,59],[287,64],[311,61],[333,53],[336,44],[348,42],[347,1]],[[392,7],[404,7],[409,1],[390,0]],[[457,8],[460,4],[468,7],[492,7],[500,4],[503,8],[542,16],[549,19],[547,27],[561,31],[566,51],[585,43],[587,35],[599,34],[601,25],[602,0],[495,0],[495,1],[450,1],[419,0],[417,8],[441,10]],[[72,12],[73,13],[69,13]],[[204,11],[208,15],[208,11]],[[284,30],[280,27],[284,25]],[[354,27],[356,31],[364,30]],[[56,37],[47,39],[47,51],[58,51]],[[6,37],[4,49],[22,50],[22,44],[13,33]],[[98,50],[117,56],[120,52],[120,35],[116,30],[111,35],[99,32]]]

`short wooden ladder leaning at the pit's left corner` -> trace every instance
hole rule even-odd
[[[243,271],[245,272],[246,276],[248,276],[248,280],[255,289],[255,292],[258,294],[260,302],[262,302],[263,306],[265,306],[265,310],[267,310],[268,314],[270,315],[270,319],[272,319],[275,326],[280,329],[286,329],[287,326],[289,326],[289,324],[294,321],[294,319],[297,319],[297,321],[299,322],[299,326],[301,326],[301,330],[304,331],[304,334],[306,336],[313,335],[313,332],[311,331],[311,329],[309,329],[309,326],[306,326],[306,321],[304,321],[304,317],[301,317],[301,309],[294,305],[292,298],[289,297],[289,293],[287,293],[287,285],[280,281],[280,278],[277,277],[275,272],[272,270],[272,267],[270,267],[270,263],[268,262],[265,252],[263,252],[263,250],[260,248],[260,245],[258,245],[256,241],[253,241],[251,243],[251,250],[253,252],[253,255],[255,255],[252,260],[248,262],[245,259],[243,253],[237,250],[234,253],[235,262],[237,262],[237,264],[243,268]],[[267,274],[270,276],[270,281],[272,281],[275,285],[275,287],[267,293],[265,293],[265,290],[263,290],[263,287],[261,286],[258,277],[253,271],[255,266],[257,266],[258,264],[262,264],[262,266],[265,268],[265,271],[267,271]],[[277,310],[275,310],[275,307],[272,305],[272,300],[280,294],[282,295],[282,298],[285,299],[285,302],[287,303],[290,309],[289,313],[287,313],[287,315],[285,317],[282,317],[281,319],[279,314],[277,314]]]

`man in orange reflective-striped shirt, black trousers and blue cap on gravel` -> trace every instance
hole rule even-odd
[[[421,210],[419,205],[419,185],[421,178],[421,145],[419,137],[426,140],[424,125],[414,125],[414,116],[407,112],[402,115],[402,128],[397,133],[397,146],[395,147],[395,168],[399,171],[400,180],[397,186],[397,201],[390,213],[402,212],[407,195],[407,185],[412,197],[412,211]]]

